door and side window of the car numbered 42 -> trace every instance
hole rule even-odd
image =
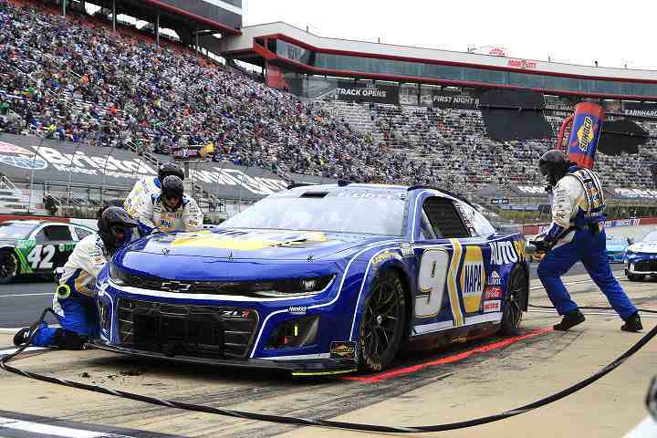
[[[35,272],[52,272],[58,266],[64,266],[75,247],[68,224],[42,226],[33,238],[36,245],[26,260]]]

